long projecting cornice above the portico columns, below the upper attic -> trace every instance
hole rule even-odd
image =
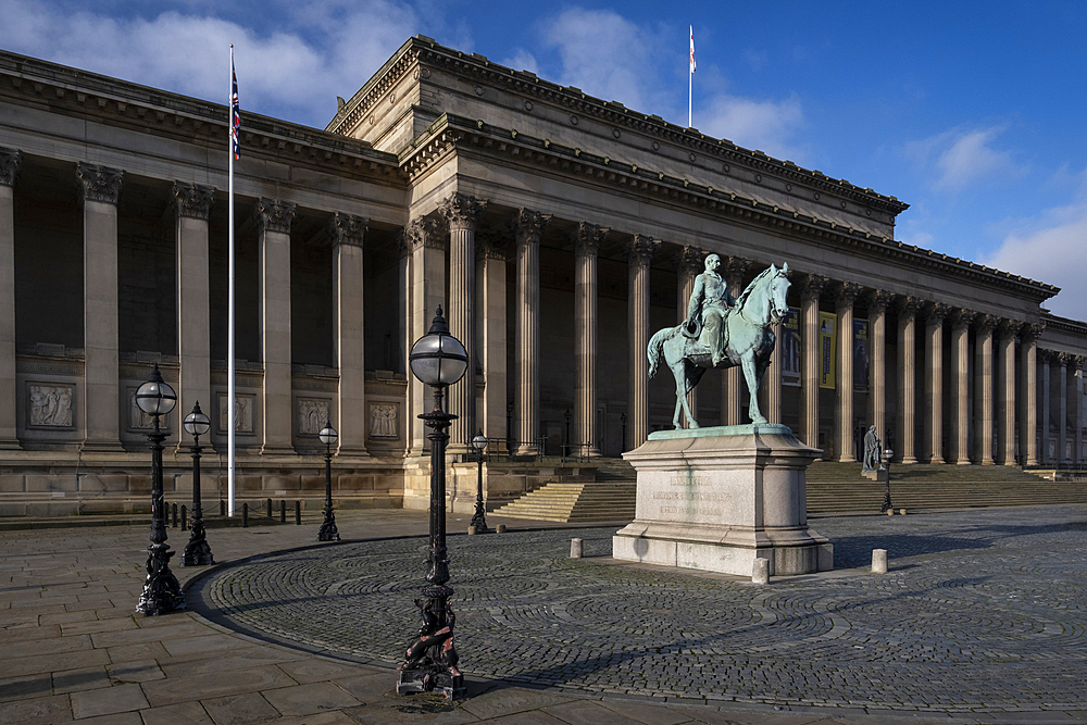
[[[777,227],[816,245],[855,249],[862,253],[901,262],[911,268],[955,276],[975,284],[1014,291],[1038,303],[1057,295],[1059,287],[1027,279],[947,254],[922,249],[888,237],[861,232],[817,216],[782,209],[757,199],[721,191],[663,172],[642,168],[609,157],[539,139],[516,129],[492,126],[453,114],[442,114],[400,153],[400,163],[411,179],[451,153],[484,153],[572,176],[582,183],[626,189],[705,213]]]

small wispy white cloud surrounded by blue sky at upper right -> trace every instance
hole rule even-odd
[[[1001,127],[955,128],[912,141],[905,151],[920,168],[933,175],[935,189],[961,191],[1000,177],[1019,177],[1025,172],[1013,161],[1010,151],[994,148],[994,141],[1003,130]]]

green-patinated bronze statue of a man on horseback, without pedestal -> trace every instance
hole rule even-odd
[[[687,405],[687,392],[710,368],[724,370],[739,365],[744,370],[752,423],[766,423],[759,410],[759,385],[770,364],[776,336],[771,326],[780,323],[789,312],[786,295],[789,290],[789,265],[773,264],[751,280],[734,301],[728,286],[717,274],[721,258],[710,254],[705,272],[695,280],[695,290],[687,303],[687,320],[676,327],[665,327],[649,340],[649,377],[657,374],[663,355],[676,379],[676,410],[673,424],[682,428],[680,411],[687,427],[698,423]]]

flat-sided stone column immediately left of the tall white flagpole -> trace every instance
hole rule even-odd
[[[172,200],[176,217],[177,253],[177,355],[180,379],[177,408],[182,420],[202,401],[211,401],[211,288],[209,284],[208,214],[215,189],[174,182]],[[182,428],[178,443],[191,446],[192,437]]]

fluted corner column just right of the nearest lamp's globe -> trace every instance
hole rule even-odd
[[[475,350],[475,228],[487,202],[454,193],[446,199],[438,211],[449,224],[449,332],[461,341],[464,349]],[[468,360],[464,376],[449,387],[449,412],[457,415],[449,428],[449,448],[452,454],[472,450],[476,435],[475,371],[479,361]]]

